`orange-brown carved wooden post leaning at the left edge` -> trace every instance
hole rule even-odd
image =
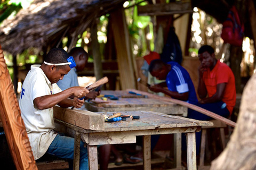
[[[25,124],[0,45],[0,116],[17,169],[37,169]]]

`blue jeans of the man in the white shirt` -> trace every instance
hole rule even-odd
[[[74,144],[74,138],[57,134],[46,153],[60,158],[74,159]],[[84,147],[84,142],[81,141],[79,170],[85,169],[89,169],[87,147]]]

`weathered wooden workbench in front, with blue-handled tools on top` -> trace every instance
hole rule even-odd
[[[114,113],[99,113],[107,114],[108,116]],[[136,136],[143,136],[143,169],[151,169],[150,157],[150,135],[155,134],[179,134],[175,140],[175,148],[181,150],[181,133],[187,133],[187,160],[188,169],[196,169],[196,143],[195,132],[201,130],[201,126],[212,125],[211,122],[191,120],[185,117],[166,115],[156,112],[121,112],[122,115],[137,115],[139,120],[105,122],[105,130],[86,130],[78,126],[59,121],[64,125],[70,134],[75,136],[75,160],[79,165],[79,142],[80,138],[87,143],[89,168],[92,170],[98,169],[97,146],[108,144],[135,143]],[[175,162],[177,168],[181,167],[181,152],[177,152]],[[76,166],[74,169],[78,169]]]

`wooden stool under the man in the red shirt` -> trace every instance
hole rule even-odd
[[[205,155],[205,144],[206,144],[205,139],[206,139],[206,130],[207,129],[219,128],[222,148],[224,149],[226,147],[224,128],[226,128],[227,125],[218,120],[210,120],[209,122],[212,122],[213,126],[202,126],[201,151],[200,151],[200,162],[199,162],[198,170],[199,169],[207,169],[205,167],[208,167],[208,166],[204,166],[204,155]],[[210,166],[209,166],[209,168],[210,168]]]

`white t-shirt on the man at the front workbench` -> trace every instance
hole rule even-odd
[[[31,66],[31,70],[22,84],[19,100],[21,116],[35,159],[39,159],[45,154],[57,133],[53,131],[55,128],[53,108],[39,110],[34,105],[34,99],[61,92],[56,83],[51,84],[39,66]]]

